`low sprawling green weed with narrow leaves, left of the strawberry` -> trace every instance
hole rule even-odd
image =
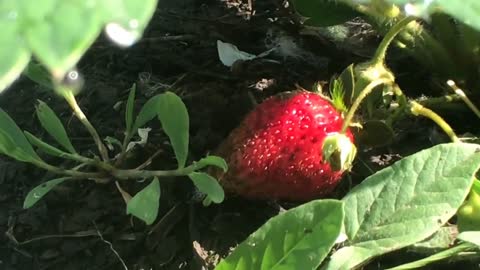
[[[127,203],[127,213],[142,219],[147,224],[152,224],[157,217],[160,203],[160,180],[158,177],[188,176],[195,186],[201,192],[206,194],[206,204],[208,204],[208,202],[221,203],[224,200],[225,194],[218,181],[206,173],[199,172],[199,170],[207,166],[216,166],[223,171],[226,171],[228,166],[225,160],[218,156],[206,156],[185,167],[188,155],[189,117],[183,101],[172,92],[159,94],[147,101],[139,115],[137,115],[135,122],[133,122],[134,98],[135,87],[132,88],[127,100],[127,109],[125,113],[127,126],[125,142],[128,143],[130,141],[132,137],[131,132],[134,130],[136,131],[134,128],[143,126],[148,121],[158,117],[165,133],[169,136],[171,145],[179,162],[179,168],[177,170],[148,171],[133,169],[123,171],[116,168],[114,166],[115,164],[110,164],[98,160],[97,158],[92,159],[78,154],[73,148],[59,117],[42,101],[39,101],[39,104],[36,107],[36,113],[42,127],[70,153],[42,141],[40,138],[27,131],[22,132],[10,116],[0,109],[0,151],[2,154],[8,155],[19,161],[34,163],[37,166],[52,170],[55,173],[67,175],[66,177],[51,180],[34,188],[25,200],[25,208],[31,207],[55,185],[66,179],[71,177],[85,179],[104,178],[104,173],[115,175],[120,179],[153,177],[153,181],[142,191],[138,192]],[[75,103],[74,98],[72,98],[71,101]],[[128,126],[132,128],[130,131],[128,130]],[[105,140],[110,143],[116,143],[122,148],[123,152],[120,156],[126,154],[127,149],[122,147],[123,145],[118,139],[109,137]],[[97,143],[99,142],[97,141]],[[46,154],[70,159],[79,162],[80,165],[72,170],[65,170],[46,164],[33,150],[32,145],[38,147],[38,149]],[[98,173],[79,171],[78,168],[83,167],[84,165],[95,166]]]

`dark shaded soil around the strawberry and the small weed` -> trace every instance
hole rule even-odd
[[[78,66],[85,81],[78,102],[101,136],[122,138],[124,104],[116,105],[126,101],[133,83],[138,87],[137,109],[155,94],[174,91],[190,113],[189,161],[214,151],[255,102],[293,90],[296,84],[311,89],[317,81],[326,83],[350,63],[365,60],[378,42],[361,22],[349,25],[356,34],[352,38],[358,38],[350,43],[302,34],[298,18],[282,1],[160,2],[144,38],[132,48],[119,49],[105,37],[99,38]],[[230,69],[218,59],[217,40],[255,54],[285,46],[282,40],[295,41],[298,51],[283,51]],[[60,114],[80,152],[96,150],[67,104],[26,78],[0,97],[0,107],[20,127],[49,141],[34,114],[36,99]],[[166,136],[158,124],[151,127],[148,145],[137,149],[125,166],[141,164],[158,149],[164,151],[151,168],[175,166]],[[352,183],[402,156],[444,140],[424,120],[407,119],[395,132],[392,144],[361,149],[349,181],[333,197],[341,198]],[[408,147],[402,146],[407,141]],[[229,196],[223,204],[205,208],[196,200],[190,182],[179,178],[162,186],[159,216],[152,226],[125,214],[125,203],[113,183],[62,184],[35,207],[23,210],[28,191],[53,177],[1,157],[0,269],[211,269],[282,207],[293,206]],[[138,182],[123,188],[134,193],[143,186]],[[390,257],[390,262],[371,263],[368,269],[411,259]]]

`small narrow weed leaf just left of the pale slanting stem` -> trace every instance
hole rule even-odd
[[[55,139],[55,141],[70,153],[77,152],[75,151],[60,118],[58,118],[55,112],[45,102],[38,100],[36,113],[42,127]]]

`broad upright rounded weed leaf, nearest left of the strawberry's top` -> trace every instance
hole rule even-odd
[[[158,119],[172,144],[178,168],[185,167],[188,156],[189,118],[182,99],[172,92],[161,94],[157,107]]]

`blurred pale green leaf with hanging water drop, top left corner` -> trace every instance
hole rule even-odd
[[[156,4],[156,0],[1,1],[0,90],[20,75],[32,54],[60,80],[105,26],[112,40],[131,45],[140,38]]]

